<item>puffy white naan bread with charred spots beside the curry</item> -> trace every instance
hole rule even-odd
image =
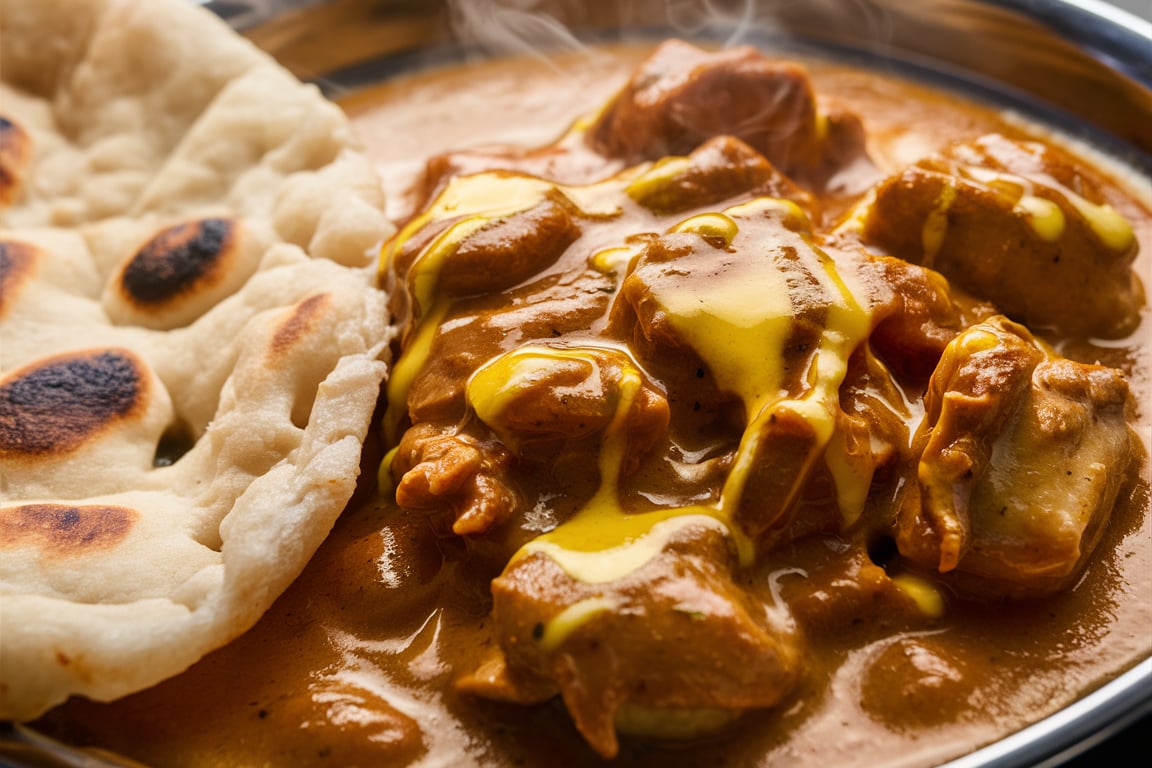
[[[297,576],[387,344],[342,113],[183,0],[0,0],[0,718],[175,675]]]

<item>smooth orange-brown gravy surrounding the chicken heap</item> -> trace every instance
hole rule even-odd
[[[593,51],[417,74],[343,105],[394,200],[425,158],[491,143],[541,145],[602,104],[643,52]],[[817,93],[861,115],[885,173],[991,131],[1041,135],[1021,120],[894,76],[808,62]],[[1045,137],[1046,138],[1046,137]],[[1108,201],[1140,242],[1147,284],[1152,211],[1116,178]],[[1120,342],[1064,344],[1130,378],[1149,441],[1152,313]],[[364,478],[381,449],[370,444]],[[809,637],[799,690],[711,739],[626,738],[620,766],[924,767],[965,754],[1099,687],[1152,654],[1149,464],[1122,494],[1097,556],[1053,599],[952,601],[930,629],[854,623]],[[369,482],[293,587],[259,624],[185,674],[113,704],[71,701],[40,724],[156,766],[597,766],[562,705],[494,704],[454,683],[494,641],[488,583],[503,563],[468,556]],[[753,569],[786,579],[820,557],[803,546]],[[926,670],[917,648],[947,668]],[[933,662],[934,663],[934,662]],[[915,672],[907,675],[905,672]]]

